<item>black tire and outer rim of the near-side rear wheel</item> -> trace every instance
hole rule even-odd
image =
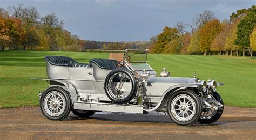
[[[45,106],[45,101],[44,101],[45,98],[48,98],[48,95],[54,94],[54,93],[56,93],[57,95],[60,95],[60,96],[62,95],[62,97],[59,96],[58,99],[63,98],[62,100],[59,101],[59,103],[57,104],[57,107],[60,108],[61,104],[62,104],[62,106],[65,105],[65,108],[62,107],[62,109],[60,109],[60,113],[56,116],[53,116],[53,114],[50,113],[51,110],[48,107],[51,106],[51,105],[46,105]],[[50,97],[48,99],[50,99]],[[61,103],[61,101],[63,101],[63,103]],[[65,104],[64,104],[64,101],[65,101]],[[52,104],[52,103],[50,103],[50,104]],[[49,89],[46,89],[43,92],[43,94],[41,96],[41,99],[40,99],[40,108],[42,110],[42,113],[43,113],[44,116],[46,116],[50,120],[63,120],[63,119],[65,119],[65,117],[68,116],[69,113],[70,113],[70,106],[71,106],[71,102],[70,102],[69,94],[65,90],[63,90],[61,87],[58,87],[58,86],[52,86]],[[53,112],[55,112],[55,111],[53,111]]]

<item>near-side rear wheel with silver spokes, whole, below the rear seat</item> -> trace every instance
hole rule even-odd
[[[69,95],[62,88],[52,86],[43,92],[40,108],[48,119],[63,120],[70,113]]]

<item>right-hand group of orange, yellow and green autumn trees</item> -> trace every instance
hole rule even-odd
[[[186,29],[190,28],[190,31]],[[165,27],[151,39],[151,53],[239,55],[256,51],[256,6],[233,12],[230,19],[220,21],[212,11],[205,10],[189,24]]]

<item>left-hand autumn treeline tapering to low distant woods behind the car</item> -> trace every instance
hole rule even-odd
[[[55,13],[41,17],[34,6],[18,4],[0,8],[2,50],[85,51],[86,48],[145,49],[148,41],[104,42],[81,40],[63,29],[64,21]]]

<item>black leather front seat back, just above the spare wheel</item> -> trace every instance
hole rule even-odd
[[[107,59],[91,59],[90,63],[96,64],[101,69],[113,70],[116,69],[116,60],[107,60]]]

